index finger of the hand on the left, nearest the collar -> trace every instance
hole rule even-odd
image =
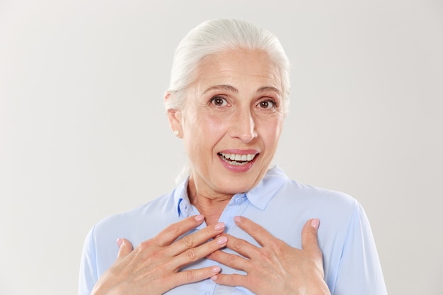
[[[166,229],[163,229],[163,231],[155,236],[154,240],[159,246],[171,245],[171,243],[176,241],[176,239],[183,235],[183,233],[200,226],[203,219],[205,219],[205,216],[195,215],[183,219],[182,221],[178,221],[175,224],[170,224]]]

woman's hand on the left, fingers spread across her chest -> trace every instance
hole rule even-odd
[[[215,238],[224,231],[223,223],[207,226],[176,241],[183,233],[202,224],[203,219],[204,216],[197,215],[171,224],[134,250],[129,241],[118,239],[117,260],[98,279],[91,295],[163,294],[174,287],[219,273],[218,266],[179,272],[181,267],[204,258],[227,243],[226,236]],[[208,242],[211,238],[214,240]]]

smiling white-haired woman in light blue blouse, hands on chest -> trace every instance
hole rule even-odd
[[[188,178],[93,227],[79,294],[386,294],[355,199],[269,168],[289,105],[274,35],[198,25],[176,50],[165,103]]]

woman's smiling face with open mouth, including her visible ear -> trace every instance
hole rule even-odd
[[[280,71],[264,52],[230,50],[205,59],[197,74],[184,110],[169,114],[190,159],[190,185],[212,199],[251,190],[282,130]]]

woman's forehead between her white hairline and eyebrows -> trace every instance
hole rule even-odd
[[[260,50],[226,50],[212,54],[197,67],[193,86],[205,91],[214,85],[273,87],[282,91],[280,71],[266,52]]]

